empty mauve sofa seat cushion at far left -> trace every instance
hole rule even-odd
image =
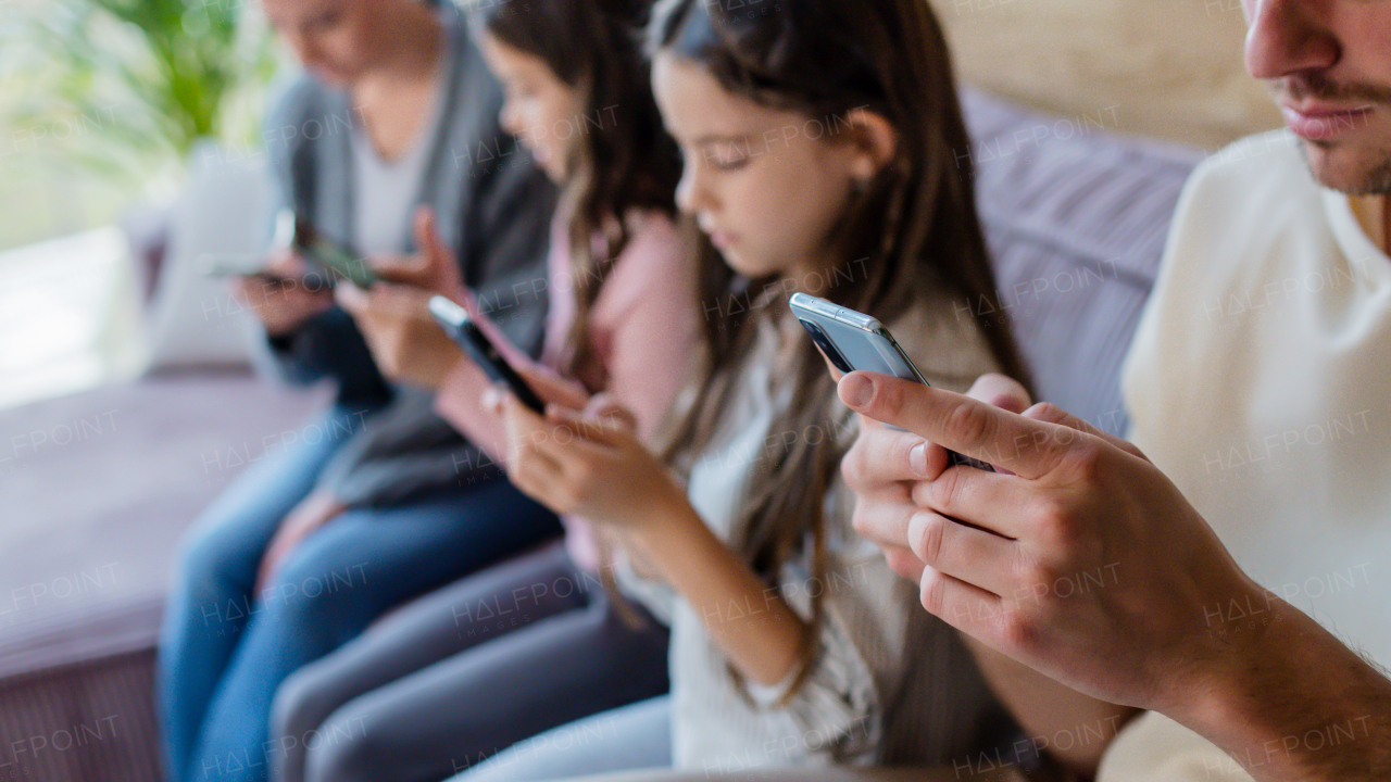
[[[0,410],[0,676],[149,643],[184,529],[325,391],[196,374]]]

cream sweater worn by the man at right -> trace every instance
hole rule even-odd
[[[1291,134],[1237,142],[1188,182],[1123,387],[1131,440],[1241,566],[1391,665],[1391,259]],[[1100,775],[1228,778],[1246,775],[1157,715]]]

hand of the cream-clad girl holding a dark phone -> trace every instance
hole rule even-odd
[[[549,405],[542,417],[506,394],[502,409],[508,476],[556,513],[637,530],[686,505],[666,465],[638,440],[632,413],[612,399],[598,395],[583,412]]]

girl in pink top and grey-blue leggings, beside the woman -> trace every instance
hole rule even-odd
[[[541,366],[480,323],[542,395],[583,406],[606,391],[640,434],[687,380],[700,331],[694,267],[672,220],[680,160],[661,131],[636,33],[644,18],[641,1],[625,0],[470,8],[506,93],[502,125],[562,186]],[[430,292],[480,316],[483,302],[459,285],[428,220],[419,228],[426,266],[384,269],[415,285],[339,296],[363,316],[401,313],[396,327],[376,330],[401,335],[373,345],[378,362],[438,385],[437,409],[502,459],[504,424],[479,406],[487,377],[420,314]],[[664,693],[665,629],[623,621],[601,589],[588,529],[577,519],[568,526],[569,555],[549,547],[465,579],[287,682],[275,721],[289,750],[277,776],[434,782],[545,729]]]

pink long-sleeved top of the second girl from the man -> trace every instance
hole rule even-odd
[[[566,232],[568,220],[556,216],[551,223],[547,263],[551,302],[540,362],[512,346],[480,313],[470,294],[465,291],[453,298],[470,310],[512,366],[549,373],[579,390],[576,383],[563,381],[555,373],[574,319],[574,271]],[[654,434],[687,380],[701,330],[696,285],[696,269],[682,252],[676,227],[662,214],[645,213],[590,309],[590,340],[606,376],[604,390],[633,412],[643,438]],[[440,385],[435,410],[501,463],[506,454],[505,427],[480,404],[490,385],[488,376],[463,358]],[[598,545],[588,523],[573,516],[563,522],[570,557],[581,568],[597,570]]]

